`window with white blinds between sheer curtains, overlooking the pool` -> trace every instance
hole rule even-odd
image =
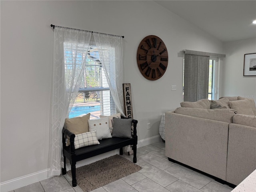
[[[66,78],[70,75],[70,68],[73,67],[72,60],[74,58],[72,58],[71,47],[72,43],[64,43]],[[111,71],[110,63],[113,62],[114,48],[104,48],[103,54],[106,67]],[[90,118],[95,119],[99,118],[100,115],[116,113],[116,106],[95,45],[90,45],[88,50],[87,48],[85,50],[82,46],[79,50],[76,50],[76,67],[82,68],[83,61],[85,61],[85,66],[82,70],[82,82],[74,105],[70,110],[69,118],[91,113]]]

